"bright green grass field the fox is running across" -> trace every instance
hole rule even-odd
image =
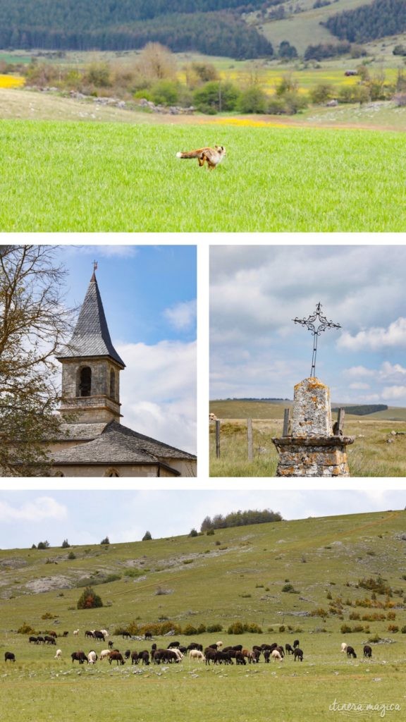
[[[1,231],[401,231],[392,133],[0,121]],[[180,149],[221,143],[213,173]]]

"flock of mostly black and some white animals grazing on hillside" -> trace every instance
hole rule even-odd
[[[68,636],[68,633],[69,632],[64,632],[62,635],[59,636],[61,638],[66,638]],[[120,633],[123,639],[134,639],[134,637],[131,636],[130,632],[124,630]],[[77,637],[79,635],[79,630],[74,630],[73,634],[75,637]],[[30,635],[30,637],[28,638],[28,642],[35,645],[56,645],[57,636],[58,635],[56,635],[56,632],[48,632],[44,635]],[[87,630],[85,632],[86,639],[92,638],[96,641],[105,642],[108,636],[108,630]],[[142,640],[142,638],[139,637],[135,639]],[[144,640],[152,640],[151,632],[147,632],[144,635]],[[354,648],[351,645],[347,645],[347,643],[345,642],[343,642],[341,645],[341,651],[342,653],[346,653],[347,659],[357,658]],[[247,662],[249,664],[258,664],[259,661],[261,661],[261,658],[263,658],[266,664],[269,664],[269,661],[271,659],[272,661],[274,661],[274,663],[281,663],[285,658],[285,654],[288,657],[293,656],[293,661],[303,662],[303,650],[300,648],[300,642],[298,639],[293,642],[293,645],[290,645],[289,643],[285,644],[285,648],[283,648],[282,645],[278,645],[276,642],[274,642],[272,644],[264,643],[260,646],[253,645],[252,649],[246,648],[242,644],[225,647],[223,646],[223,642],[221,641],[212,643],[206,648],[203,648],[202,644],[196,642],[191,642],[186,647],[185,645],[181,645],[181,643],[178,641],[172,641],[165,648],[160,648],[157,646],[156,643],[152,643],[150,650],[144,649],[142,651],[131,651],[131,649],[126,649],[126,651],[123,653],[120,652],[117,648],[114,648],[113,641],[109,640],[108,649],[103,649],[99,654],[97,654],[95,650],[91,650],[87,654],[84,651],[75,651],[72,652],[71,658],[72,664],[77,661],[79,664],[84,664],[85,662],[87,662],[87,664],[94,665],[98,660],[102,662],[103,660],[107,659],[109,664],[116,662],[116,666],[122,666],[126,664],[126,661],[129,660],[131,660],[131,665],[148,665],[151,663],[178,664],[180,661],[183,660],[183,658],[187,658],[189,656],[190,663],[204,662],[204,664],[210,666],[210,664],[246,665]],[[62,650],[58,649],[54,658],[60,659],[61,657]],[[366,644],[363,646],[363,658],[372,658],[371,645]],[[15,654],[13,652],[6,652],[4,654],[4,661],[15,662]]]

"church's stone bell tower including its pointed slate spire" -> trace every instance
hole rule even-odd
[[[62,401],[59,412],[74,424],[120,422],[120,371],[125,368],[111,343],[103,303],[92,278],[72,339],[62,349]],[[70,420],[70,419],[69,419]]]

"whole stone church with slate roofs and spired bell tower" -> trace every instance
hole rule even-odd
[[[60,438],[48,446],[54,476],[196,476],[196,456],[120,423],[125,364],[111,342],[95,272],[58,360],[64,424]]]

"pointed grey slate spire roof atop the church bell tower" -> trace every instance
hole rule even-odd
[[[93,271],[72,339],[62,349],[58,358],[61,360],[95,356],[108,356],[119,366],[125,368],[124,361],[118,356],[111,343],[98,282],[95,271]]]

